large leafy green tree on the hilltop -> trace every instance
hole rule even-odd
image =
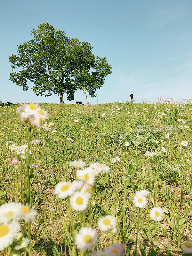
[[[94,97],[105,76],[112,73],[106,58],[92,54],[91,44],[66,37],[64,31],[55,31],[49,23],[31,32],[34,39],[18,45],[18,56],[12,54],[9,58],[12,71],[17,70],[10,74],[10,80],[23,86],[24,91],[28,90],[27,81],[31,81],[36,95],[54,93],[60,95],[61,103],[63,93],[74,100],[77,89],[85,89]]]

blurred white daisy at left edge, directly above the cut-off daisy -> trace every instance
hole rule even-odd
[[[21,217],[18,204],[15,202],[5,203],[0,206],[0,223],[9,223],[19,220]]]

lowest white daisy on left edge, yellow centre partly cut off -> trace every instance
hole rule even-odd
[[[16,239],[20,224],[12,221],[9,224],[0,224],[0,251],[7,248]]]

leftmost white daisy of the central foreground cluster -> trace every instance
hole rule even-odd
[[[75,186],[71,181],[59,182],[55,189],[54,194],[56,194],[59,198],[66,198],[67,196],[72,196],[75,192]]]

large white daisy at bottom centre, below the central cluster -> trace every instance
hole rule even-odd
[[[92,250],[94,244],[98,243],[97,231],[93,228],[81,228],[75,237],[77,249]]]

